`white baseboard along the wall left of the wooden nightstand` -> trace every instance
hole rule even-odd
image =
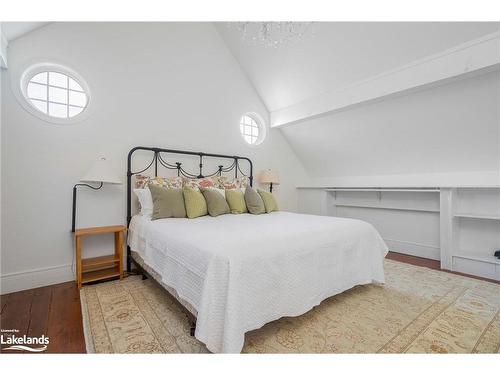
[[[72,280],[75,280],[75,274],[71,264],[13,272],[2,275],[0,293],[18,292]]]

